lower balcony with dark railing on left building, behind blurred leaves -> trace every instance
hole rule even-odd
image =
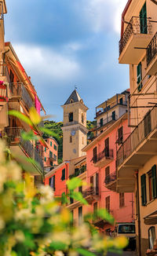
[[[39,154],[36,148],[34,148],[31,141],[24,141],[20,136],[22,131],[21,127],[9,127],[5,128],[3,138],[6,138],[10,145],[11,152],[17,161],[30,172],[35,172],[38,169],[38,166],[35,166],[31,162],[28,163],[25,160],[25,157],[35,159],[35,161],[39,164],[40,169],[43,170],[44,166],[42,163],[42,156]]]

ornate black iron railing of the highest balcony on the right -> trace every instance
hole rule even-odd
[[[119,41],[119,55],[122,53],[122,50],[126,47],[127,42],[129,41],[131,35],[137,35],[137,34],[151,34],[151,22],[147,18],[144,20],[145,22],[141,22],[140,16],[132,16],[129,24],[126,27],[126,30],[124,31],[122,38]],[[145,27],[143,27],[142,24],[145,24]]]

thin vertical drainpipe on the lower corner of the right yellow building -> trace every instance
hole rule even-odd
[[[138,170],[136,171],[137,177],[137,210],[138,210],[138,247],[139,247],[139,256],[141,254],[141,213],[140,213],[140,199],[139,199],[139,183],[138,183]]]

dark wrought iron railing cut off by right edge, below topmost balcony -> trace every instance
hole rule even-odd
[[[148,64],[150,64],[152,59],[156,56],[156,53],[157,53],[157,32],[155,33],[154,37],[152,38],[146,50],[147,66]]]

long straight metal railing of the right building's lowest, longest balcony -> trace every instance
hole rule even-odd
[[[157,127],[157,108],[152,108],[152,111],[145,115],[144,119],[133,130],[126,141],[117,152],[117,166],[119,167],[125,159],[144,141],[148,134]]]

